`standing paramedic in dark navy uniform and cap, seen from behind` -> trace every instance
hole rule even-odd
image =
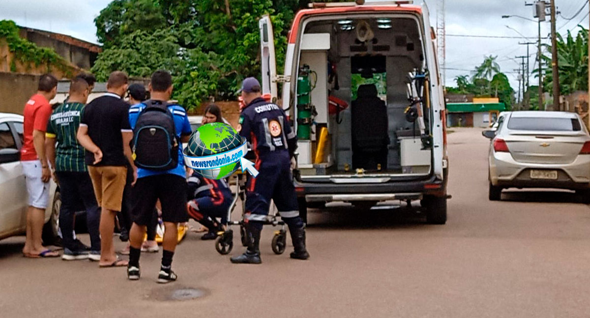
[[[242,83],[242,99],[247,105],[241,112],[238,132],[251,144],[255,153],[255,168],[259,174],[248,178],[245,203],[245,230],[248,249],[232,257],[232,263],[260,264],[260,232],[267,219],[271,199],[281,219],[289,226],[295,250],[291,258],[306,260],[305,224],[299,217],[299,206],[291,175],[291,161],[297,147],[283,109],[261,97],[258,80],[249,77]]]

